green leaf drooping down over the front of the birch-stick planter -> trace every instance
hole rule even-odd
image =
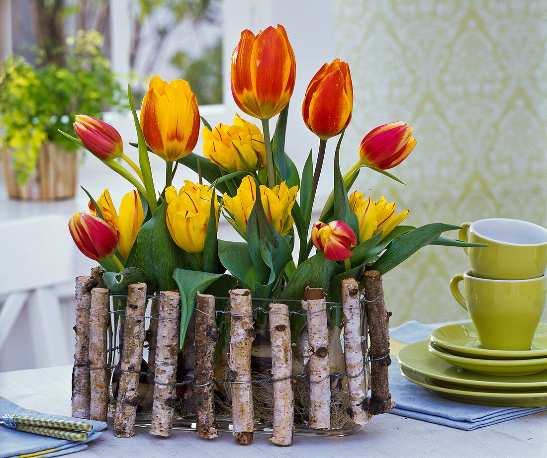
[[[181,333],[179,335],[179,348],[182,349],[184,337],[188,329],[190,317],[196,306],[196,294],[198,291],[205,292],[207,286],[211,285],[225,274],[210,272],[185,271],[176,268],[173,271],[173,279],[181,292]]]

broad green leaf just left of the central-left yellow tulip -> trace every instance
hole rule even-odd
[[[173,271],[183,265],[183,252],[173,242],[167,228],[167,203],[163,201],[137,236],[135,267],[148,272],[152,281],[158,284],[160,291],[174,289]]]

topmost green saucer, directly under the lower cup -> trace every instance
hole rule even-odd
[[[492,360],[518,360],[547,357],[547,324],[540,323],[529,350],[489,350],[480,346],[473,323],[456,323],[435,329],[429,336],[442,349],[458,356]]]

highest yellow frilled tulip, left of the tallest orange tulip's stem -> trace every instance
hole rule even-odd
[[[237,114],[234,125],[203,127],[203,155],[228,172],[254,172],[266,167],[264,136],[258,126]]]

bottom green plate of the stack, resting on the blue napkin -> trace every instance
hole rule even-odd
[[[405,347],[406,348],[406,347]],[[401,365],[401,374],[416,385],[423,386],[435,394],[451,401],[484,406],[544,407],[547,406],[547,392],[482,392],[454,389],[436,384],[426,375]]]

